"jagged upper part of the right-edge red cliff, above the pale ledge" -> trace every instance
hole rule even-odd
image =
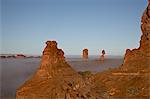
[[[150,68],[150,3],[141,20],[142,36],[138,49],[127,49],[122,69],[125,71],[147,71]]]

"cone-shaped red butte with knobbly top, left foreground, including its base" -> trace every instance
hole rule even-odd
[[[56,41],[47,41],[41,66],[16,92],[16,99],[74,99],[96,97],[82,76],[65,61]]]

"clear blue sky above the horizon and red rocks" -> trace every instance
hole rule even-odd
[[[124,55],[139,46],[147,0],[2,0],[0,54],[38,54],[56,40],[65,55],[102,49]]]

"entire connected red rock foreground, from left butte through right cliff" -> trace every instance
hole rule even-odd
[[[127,50],[118,69],[84,79],[65,61],[55,41],[48,41],[41,66],[21,86],[17,99],[149,99],[150,98],[150,3],[142,16],[140,47]],[[87,51],[86,57],[87,57]]]

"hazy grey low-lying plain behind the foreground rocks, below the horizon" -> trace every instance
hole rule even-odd
[[[0,59],[0,99],[15,99],[16,89],[30,79],[40,65],[39,58]],[[93,73],[116,68],[123,62],[122,58],[107,58],[104,62],[92,57],[88,60],[67,58],[67,62],[76,71],[91,71]]]

